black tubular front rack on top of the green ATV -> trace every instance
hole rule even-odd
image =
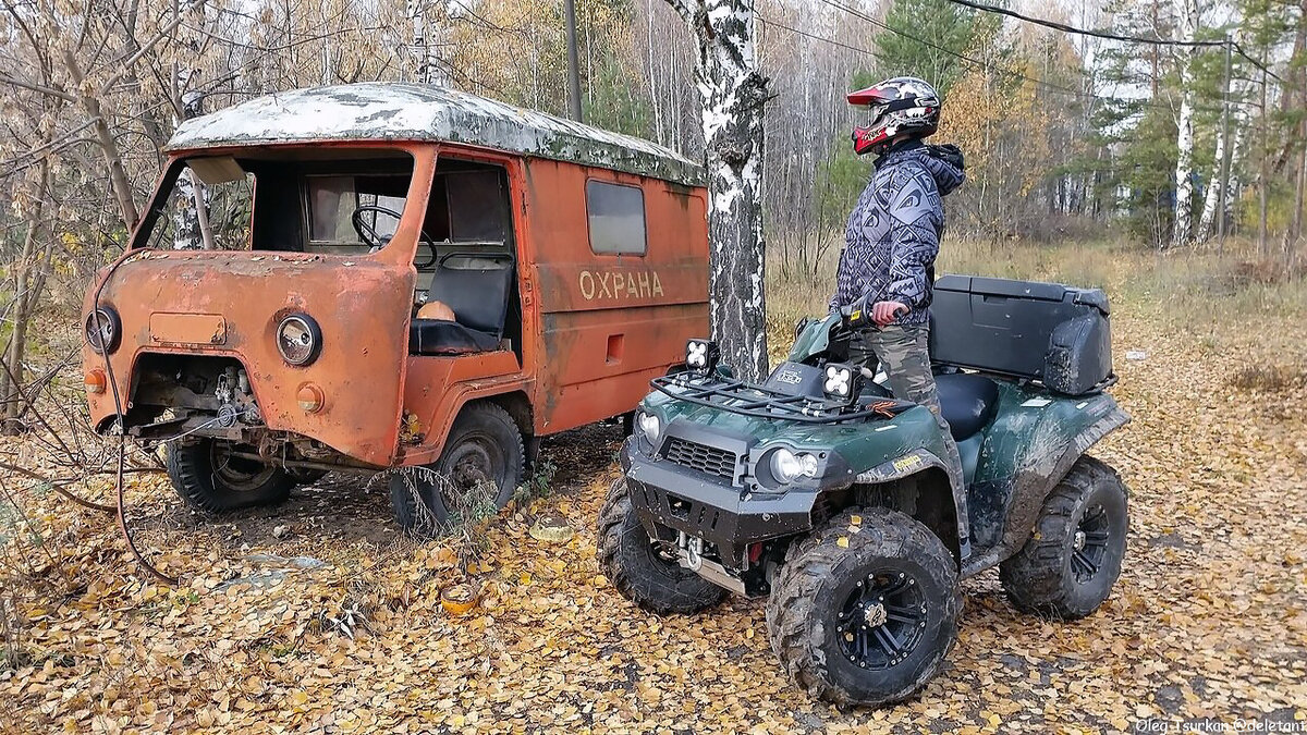
[[[847,405],[833,400],[818,400],[802,394],[784,394],[735,378],[691,375],[694,374],[677,373],[654,378],[650,385],[664,395],[697,405],[755,419],[779,419],[802,424],[843,424],[869,419],[893,419],[916,407],[915,403],[881,396],[872,396],[869,402]]]

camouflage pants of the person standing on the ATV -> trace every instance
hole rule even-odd
[[[890,324],[887,327],[868,327],[853,333],[848,345],[848,361],[874,369],[880,361],[889,378],[890,392],[899,400],[911,400],[935,413],[944,433],[944,449],[948,456],[940,459],[948,466],[949,473],[962,484],[962,458],[958,445],[949,433],[949,422],[940,413],[940,394],[931,373],[931,356],[927,352],[927,337],[931,328],[927,324]]]

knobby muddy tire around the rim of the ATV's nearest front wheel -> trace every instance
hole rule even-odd
[[[899,570],[927,607],[924,625],[898,663],[863,668],[843,649],[840,612],[860,594],[859,581]],[[789,547],[767,600],[767,633],[782,667],[809,694],[842,706],[885,706],[915,696],[938,674],[961,612],[958,566],[935,534],[899,511],[852,509]]]

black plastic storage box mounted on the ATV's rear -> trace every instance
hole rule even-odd
[[[1082,395],[1112,375],[1107,294],[1060,284],[944,276],[931,303],[936,362]]]

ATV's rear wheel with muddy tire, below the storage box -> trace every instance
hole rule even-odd
[[[1035,532],[999,565],[999,579],[1021,612],[1076,620],[1098,609],[1125,557],[1125,484],[1107,464],[1082,456],[1053,488]]]

